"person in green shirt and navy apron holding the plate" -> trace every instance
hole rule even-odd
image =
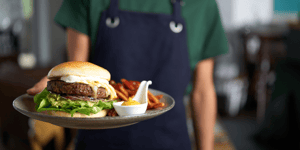
[[[66,29],[69,61],[93,62],[115,81],[152,80],[151,88],[176,101],[169,112],[135,125],[79,130],[76,149],[191,149],[186,89],[197,148],[213,149],[213,57],[227,53],[214,0],[64,0],[55,21]],[[45,77],[27,92],[40,92],[46,82]]]

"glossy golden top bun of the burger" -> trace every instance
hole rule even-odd
[[[53,67],[49,73],[48,78],[57,78],[62,76],[80,76],[80,77],[95,77],[110,80],[110,73],[93,63],[82,61],[70,61],[61,63]]]

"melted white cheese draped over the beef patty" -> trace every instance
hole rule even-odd
[[[97,98],[97,91],[99,87],[103,87],[106,89],[106,96],[110,95],[110,99],[117,97],[115,89],[109,84],[107,80],[95,78],[95,77],[79,77],[79,76],[63,76],[60,80],[65,81],[67,83],[84,83],[91,86],[94,95],[94,98]]]

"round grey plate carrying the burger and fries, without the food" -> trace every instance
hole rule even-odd
[[[109,129],[119,128],[136,124],[140,121],[147,120],[159,116],[169,110],[174,105],[174,99],[161,91],[149,89],[154,95],[162,94],[163,98],[161,102],[165,103],[165,106],[158,109],[147,110],[145,114],[134,115],[134,116],[117,116],[117,117],[102,117],[102,118],[71,118],[71,117],[57,117],[51,116],[45,113],[35,111],[35,103],[33,102],[33,96],[24,94],[19,96],[13,101],[13,107],[20,113],[44,122],[49,122],[58,126],[66,128],[77,128],[77,129]]]

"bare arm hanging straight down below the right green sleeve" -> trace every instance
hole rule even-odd
[[[191,107],[197,148],[214,149],[214,125],[217,100],[213,82],[214,60],[199,62],[194,72],[194,86],[191,93]]]

